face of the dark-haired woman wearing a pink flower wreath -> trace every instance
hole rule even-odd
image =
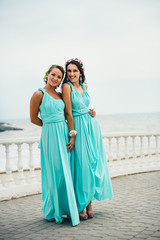
[[[71,83],[79,82],[81,73],[75,64],[70,63],[67,67],[67,76]]]

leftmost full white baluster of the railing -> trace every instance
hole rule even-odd
[[[11,165],[11,160],[10,160],[10,149],[9,149],[9,144],[5,144],[5,152],[6,152],[6,182],[5,185],[6,187],[10,187],[15,185],[13,176],[12,176],[12,165]]]

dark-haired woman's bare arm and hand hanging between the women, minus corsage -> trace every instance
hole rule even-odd
[[[67,119],[68,128],[69,128],[69,131],[71,131],[74,129],[74,121],[73,121],[73,116],[72,116],[71,88],[67,83],[63,84],[63,86],[62,86],[62,98],[65,103],[65,116]],[[68,146],[67,150],[69,152],[71,152],[73,150],[74,139],[75,139],[74,136],[70,137],[70,141],[67,144],[67,146]]]

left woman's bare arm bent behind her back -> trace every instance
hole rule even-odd
[[[38,117],[39,106],[42,103],[43,93],[41,91],[37,91],[33,94],[30,101],[30,120],[31,123],[34,123],[38,126],[42,126],[42,120]]]

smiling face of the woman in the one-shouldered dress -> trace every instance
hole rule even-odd
[[[63,75],[58,68],[53,68],[51,72],[47,74],[47,77],[47,84],[50,84],[52,87],[57,87],[61,83]]]

